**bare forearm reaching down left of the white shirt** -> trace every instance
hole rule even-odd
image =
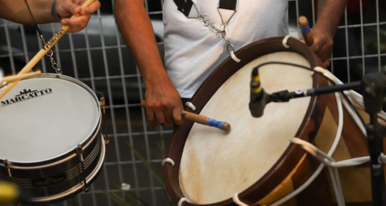
[[[144,1],[116,0],[114,11],[118,27],[141,70],[145,85],[167,78]]]

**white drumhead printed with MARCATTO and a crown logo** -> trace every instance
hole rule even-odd
[[[90,137],[99,123],[98,101],[85,85],[68,79],[46,75],[22,80],[0,99],[1,159],[48,160]]]

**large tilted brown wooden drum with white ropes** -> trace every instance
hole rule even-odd
[[[224,133],[187,121],[176,128],[166,152],[173,162],[164,164],[163,171],[168,193],[180,205],[236,205],[237,199],[276,205],[283,198],[288,199],[284,205],[336,205],[327,169],[290,140],[312,142],[337,161],[368,155],[363,133],[334,94],[269,103],[262,117],[250,115],[254,67],[269,61],[321,65],[305,44],[290,38],[286,48],[282,40],[264,39],[240,49],[236,55],[241,62],[225,60],[192,97],[195,112],[227,121],[232,130]],[[328,85],[321,75],[282,64],[262,66],[259,74],[267,93]],[[339,171],[347,205],[369,203],[368,165]],[[306,187],[307,181],[312,183]]]

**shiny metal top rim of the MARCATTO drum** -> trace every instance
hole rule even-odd
[[[66,76],[66,75],[50,74],[50,73],[44,73],[44,74],[41,74],[40,76],[31,77],[31,78],[27,78],[27,79],[37,79],[37,78],[62,79],[62,80],[66,80],[66,81],[72,82],[74,84],[77,84],[78,86],[85,89],[93,97],[93,99],[95,100],[96,107],[100,108],[100,106],[98,104],[99,100],[98,100],[98,97],[96,97],[96,94],[86,84],[84,84],[83,82],[81,82],[77,79],[74,79],[74,78]],[[4,86],[7,86],[7,85],[4,85]],[[0,87],[0,89],[3,88],[4,86]],[[101,110],[97,109],[96,111],[98,111],[98,122],[96,122],[94,129],[93,129],[93,132],[90,133],[87,138],[85,138],[82,142],[79,143],[82,146],[83,150],[88,147],[88,145],[95,139],[96,136],[98,136],[97,133],[101,128],[101,123],[102,123]],[[12,169],[38,169],[38,168],[45,168],[45,167],[54,166],[54,165],[57,165],[57,164],[60,164],[64,161],[66,161],[68,159],[76,157],[77,156],[76,148],[77,147],[75,146],[74,148],[68,150],[67,152],[64,152],[62,154],[56,155],[56,156],[48,158],[48,159],[43,159],[40,161],[29,161],[29,162],[10,161],[10,164],[8,165],[8,167],[12,168]],[[5,160],[6,159],[0,158],[0,166],[5,167]]]

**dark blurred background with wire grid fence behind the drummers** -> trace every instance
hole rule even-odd
[[[113,0],[100,2],[102,7],[92,15],[87,28],[65,34],[53,51],[64,75],[75,77],[106,96],[110,144],[107,145],[103,170],[91,190],[54,205],[119,205],[113,196],[129,198],[121,190],[123,182],[130,184],[132,194],[146,202],[136,201],[135,204],[169,205],[152,172],[129,148],[132,145],[161,173],[163,154],[160,148],[163,142],[158,130],[147,124],[145,111],[139,105],[144,98],[141,75],[117,29]],[[145,2],[161,56],[163,2]],[[312,26],[316,21],[317,1],[288,0],[288,3],[289,31],[299,37],[297,19],[306,16]],[[40,29],[45,39],[50,39],[59,26],[45,24],[40,25]],[[33,26],[0,19],[0,67],[6,75],[20,71],[41,47]],[[348,0],[334,39],[331,60],[329,69],[343,82],[360,80],[369,72],[386,71],[386,1]],[[44,73],[54,73],[48,58],[44,58],[36,68]],[[172,127],[163,127],[161,132],[167,143]]]

